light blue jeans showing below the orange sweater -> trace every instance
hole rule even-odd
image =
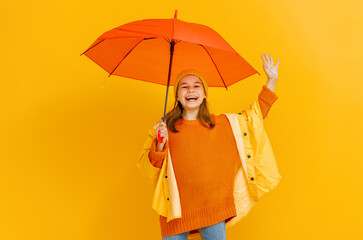
[[[226,240],[226,223],[220,223],[197,229],[203,240]],[[162,240],[186,240],[189,232],[180,233],[172,236],[162,237]]]

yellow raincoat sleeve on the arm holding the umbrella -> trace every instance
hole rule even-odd
[[[143,148],[137,161],[137,168],[141,175],[155,189],[161,169],[153,166],[150,162],[149,153],[151,151],[152,143],[156,138],[155,129],[152,128],[148,132],[148,136],[144,142]]]

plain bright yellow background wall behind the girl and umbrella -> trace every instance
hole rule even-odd
[[[362,239],[362,8],[358,0],[2,2],[0,239],[161,239],[136,161],[166,87],[108,77],[80,54],[105,31],[175,9],[261,73],[228,92],[210,88],[213,113],[247,108],[267,80],[260,55],[281,59],[265,124],[283,178],[227,238]]]

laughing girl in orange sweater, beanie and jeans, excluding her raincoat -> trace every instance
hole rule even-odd
[[[268,76],[258,98],[264,119],[277,100],[273,91],[280,60],[274,66],[272,55],[271,59],[266,54],[261,57]],[[178,75],[174,95],[175,105],[166,115],[166,123],[159,121],[154,126],[155,136],[160,130],[163,141],[155,137],[147,151],[156,169],[163,167],[170,152],[179,193],[182,217],[167,221],[160,215],[162,239],[185,240],[189,233],[195,236],[198,232],[203,240],[226,239],[225,224],[237,216],[235,201],[241,201],[234,196],[236,166],[241,156],[236,133],[226,115],[210,114],[208,85],[197,70],[186,69]],[[250,181],[254,181],[253,177]]]

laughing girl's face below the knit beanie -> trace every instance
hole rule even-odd
[[[187,100],[187,98],[197,98]],[[199,108],[204,98],[206,98],[203,83],[195,75],[186,75],[179,81],[178,98],[183,108],[186,110],[192,110]]]

